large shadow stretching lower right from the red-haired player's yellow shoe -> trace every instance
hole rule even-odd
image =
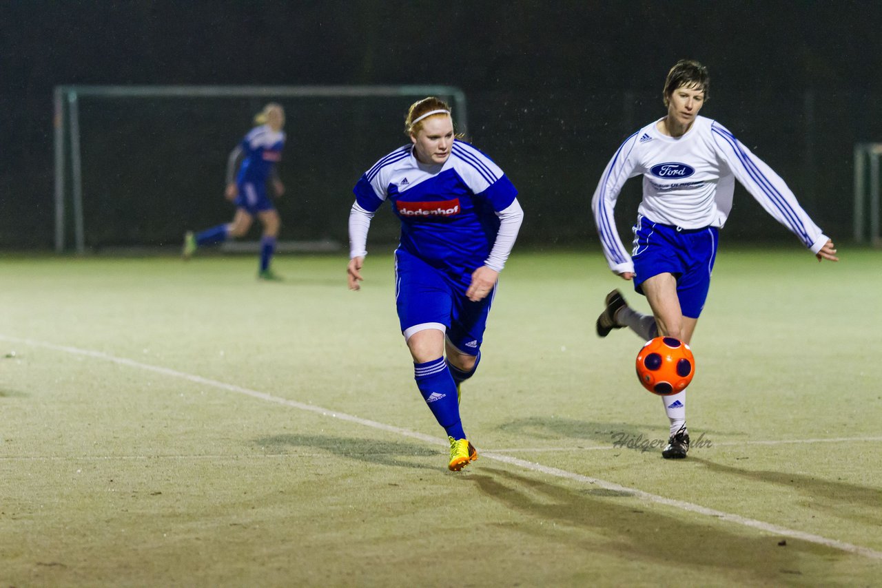
[[[541,524],[504,523],[537,539],[583,542],[587,554],[598,545],[609,555],[633,562],[667,562],[676,568],[714,570],[744,584],[788,584],[803,574],[815,577],[839,550],[728,527],[713,519],[695,520],[690,513],[662,505],[635,502],[622,493],[592,493],[549,484],[526,475],[483,466],[469,481],[491,499]],[[573,530],[590,533],[585,539]],[[808,566],[812,560],[815,565]],[[673,581],[670,577],[668,580]],[[726,581],[720,578],[723,583]],[[658,578],[659,582],[664,582]]]

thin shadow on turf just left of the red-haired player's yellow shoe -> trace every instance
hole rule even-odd
[[[436,459],[442,455],[440,450],[432,449],[425,443],[405,443],[377,439],[358,439],[332,435],[272,435],[255,440],[268,450],[285,451],[291,447],[309,447],[327,451],[340,458],[355,459],[379,465],[395,465],[417,469],[437,470],[435,463],[427,464],[425,458]]]

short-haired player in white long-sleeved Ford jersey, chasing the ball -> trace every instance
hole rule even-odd
[[[677,62],[662,94],[668,115],[624,140],[594,191],[594,222],[609,268],[633,279],[634,290],[647,297],[653,311],[652,316],[640,314],[614,290],[597,319],[601,337],[627,326],[644,340],[663,335],[690,342],[707,298],[719,229],[732,208],[736,179],[818,261],[838,261],[833,242],[781,177],[720,123],[699,116],[709,82],[700,63]],[[624,182],[635,175],[643,175],[643,199],[628,255],[613,209]],[[664,458],[685,458],[689,450],[685,394],[662,397],[670,421]]]

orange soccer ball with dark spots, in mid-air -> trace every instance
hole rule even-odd
[[[684,391],[694,375],[692,350],[680,339],[649,339],[637,354],[637,377],[653,394],[670,396]]]

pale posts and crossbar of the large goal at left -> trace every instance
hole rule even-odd
[[[450,97],[457,130],[467,132],[466,94],[456,86],[56,86],[55,126],[55,248],[66,247],[66,201],[70,192],[73,242],[77,253],[86,251],[83,218],[82,160],[79,102],[82,97],[102,98],[293,98],[293,97]],[[68,139],[65,143],[65,137]],[[70,186],[67,182],[70,166]]]

